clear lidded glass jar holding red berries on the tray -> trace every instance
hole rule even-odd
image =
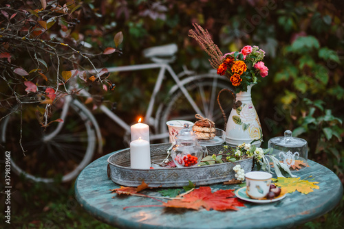
[[[202,147],[197,143],[197,135],[185,123],[184,128],[175,136],[175,145],[171,157],[177,167],[193,167],[200,164],[203,156]]]

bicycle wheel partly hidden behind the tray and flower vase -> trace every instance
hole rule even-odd
[[[215,122],[217,128],[224,127],[224,118],[217,104],[217,94],[223,88],[230,88],[230,82],[212,75],[206,77],[195,76],[194,79],[184,84],[189,95],[203,115]],[[230,97],[226,101],[221,101],[221,104],[223,104],[222,107],[228,114],[232,108],[233,99]],[[196,121],[195,114],[197,111],[191,106],[180,88],[164,101],[161,110],[159,116],[160,133],[168,132],[166,121],[173,119]]]

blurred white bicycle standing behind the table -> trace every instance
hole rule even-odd
[[[159,69],[144,117],[144,123],[150,126],[152,141],[166,141],[169,136],[166,121],[172,119],[195,121],[197,113],[215,121],[217,125],[224,122],[222,112],[215,104],[217,93],[223,88],[230,87],[230,82],[214,71],[197,75],[184,69],[177,75],[170,66],[177,51],[178,47],[175,44],[151,47],[143,53],[152,63],[108,68],[109,72]],[[171,80],[167,76],[171,77],[175,85],[166,99],[156,105],[157,97],[161,95],[162,82]],[[86,90],[81,90],[80,95],[91,96]],[[231,102],[231,99],[227,100],[228,103]],[[229,110],[231,106],[228,104],[224,107]],[[123,121],[107,106],[101,105],[99,108],[120,125],[128,136],[129,123]],[[92,112],[82,102],[68,95],[59,99],[52,106],[52,110],[51,120],[59,118],[63,119],[63,123],[52,123],[45,131],[36,121],[35,113],[39,112],[37,106],[23,106],[21,112],[18,109],[1,121],[1,144],[6,150],[11,151],[12,170],[35,182],[53,182],[56,173],[61,174],[58,178],[62,182],[73,180],[91,162],[97,144],[98,152],[102,152],[103,141],[99,125]],[[19,144],[21,134],[21,145],[26,150],[25,156]]]

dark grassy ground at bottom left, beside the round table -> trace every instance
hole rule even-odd
[[[81,208],[74,197],[74,182],[43,184],[13,180],[11,224],[4,222],[4,228],[113,228]],[[4,202],[5,195],[1,195],[1,203]],[[4,219],[3,206],[1,204],[1,219]]]

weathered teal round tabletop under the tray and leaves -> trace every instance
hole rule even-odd
[[[116,153],[116,152],[115,152]],[[270,204],[252,204],[237,211],[184,210],[162,207],[127,208],[126,206],[161,204],[147,197],[116,196],[109,189],[116,189],[107,178],[107,158],[103,156],[88,165],[75,184],[76,200],[87,212],[107,224],[118,228],[292,228],[330,211],[343,195],[338,177],[322,165],[309,160],[310,167],[294,174],[301,179],[313,176],[320,189],[308,195],[289,193],[286,198]],[[218,189],[239,189],[236,184],[211,185]],[[147,195],[159,195],[156,191],[142,191]],[[115,198],[112,198],[116,196]]]

